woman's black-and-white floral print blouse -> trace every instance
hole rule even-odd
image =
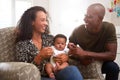
[[[53,44],[53,36],[48,34],[42,35],[42,48],[52,46]],[[32,40],[25,40],[16,43],[16,60],[19,62],[27,62],[33,63],[34,57],[40,51],[33,44]],[[40,65],[36,65],[42,76],[46,76],[46,72],[44,71],[44,65],[49,60],[43,60]],[[34,63],[33,63],[34,64]]]

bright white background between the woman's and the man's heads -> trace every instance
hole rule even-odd
[[[86,0],[51,0],[49,13],[51,16],[51,32],[69,36],[73,29],[84,23]]]

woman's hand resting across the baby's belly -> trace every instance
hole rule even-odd
[[[59,64],[67,61],[68,61],[68,55],[65,53],[59,54],[55,58],[55,62],[58,62]]]

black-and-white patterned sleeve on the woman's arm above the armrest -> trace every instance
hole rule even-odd
[[[28,41],[16,43],[16,60],[20,62],[34,63],[34,58],[37,56],[38,50]],[[38,56],[41,62],[40,56]]]

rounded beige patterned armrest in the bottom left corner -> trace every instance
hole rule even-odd
[[[0,62],[0,80],[40,80],[38,68],[24,62]]]

